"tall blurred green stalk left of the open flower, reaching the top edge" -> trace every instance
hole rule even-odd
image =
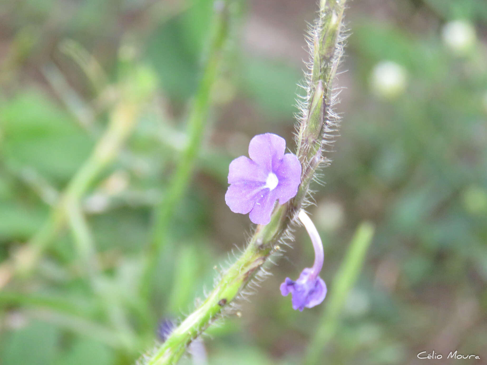
[[[207,114],[210,108],[211,90],[218,76],[228,38],[229,14],[231,13],[228,5],[230,2],[231,0],[225,0],[222,2],[223,6],[216,9],[208,58],[188,116],[188,143],[171,176],[164,198],[155,210],[154,230],[149,247],[147,270],[143,280],[145,285],[142,288],[144,296],[149,295],[157,260],[167,244],[167,233],[171,217],[177,203],[187,189],[191,172],[201,147],[208,119]]]

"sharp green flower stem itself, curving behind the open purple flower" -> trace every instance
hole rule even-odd
[[[277,205],[269,224],[256,227],[244,253],[222,274],[212,292],[191,313],[169,338],[140,364],[176,364],[187,345],[197,338],[214,319],[232,310],[232,300],[243,295],[246,285],[262,273],[262,266],[276,249],[276,244],[290,237],[289,228],[296,214],[306,202],[309,184],[322,162],[328,137],[336,128],[333,114],[333,80],[342,53],[340,30],[345,1],[327,5],[321,1],[319,19],[312,30],[310,44],[310,75],[307,78],[307,96],[301,105],[302,113],[297,138],[298,158],[302,166],[302,178],[298,195],[286,204]]]

